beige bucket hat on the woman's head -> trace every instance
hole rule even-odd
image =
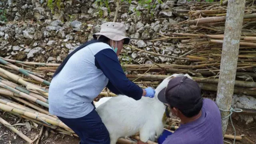
[[[97,35],[103,35],[110,40],[122,40],[124,39],[124,44],[129,44],[130,38],[126,37],[126,30],[124,24],[119,22],[106,22],[100,26],[100,32],[92,34],[94,38]]]

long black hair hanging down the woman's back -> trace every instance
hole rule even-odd
[[[68,59],[74,54],[76,53],[78,50],[81,50],[82,48],[84,48],[85,46],[89,45],[89,44],[93,44],[95,42],[104,42],[106,44],[109,45],[109,38],[107,38],[106,36],[100,36],[98,39],[97,38],[93,38],[90,41],[85,42],[84,44],[82,44],[81,46],[79,46],[78,48],[76,48],[73,52],[71,52],[70,54],[68,54],[68,56],[64,59],[64,61],[60,64],[60,66],[57,68],[56,72],[53,74],[52,78],[54,78],[54,76],[56,76],[61,70],[62,68],[65,66],[65,64],[68,62]]]

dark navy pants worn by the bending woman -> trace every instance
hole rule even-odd
[[[108,130],[95,108],[81,118],[58,118],[79,136],[79,144],[110,144]]]

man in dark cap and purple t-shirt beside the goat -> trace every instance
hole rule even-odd
[[[163,144],[223,144],[220,110],[212,100],[201,97],[197,82],[186,76],[173,78],[158,99],[181,120]]]

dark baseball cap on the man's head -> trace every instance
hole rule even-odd
[[[187,76],[172,78],[167,87],[159,92],[158,99],[182,111],[200,106],[203,100],[199,85]]]

